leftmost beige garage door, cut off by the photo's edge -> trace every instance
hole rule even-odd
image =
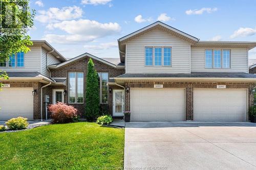
[[[13,117],[33,119],[32,88],[3,88],[0,91],[0,120]]]

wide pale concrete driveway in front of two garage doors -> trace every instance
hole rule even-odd
[[[256,124],[126,123],[124,169],[256,169]]]

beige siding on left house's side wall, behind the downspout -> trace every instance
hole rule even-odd
[[[46,68],[46,53],[47,51],[42,48],[42,65],[41,65],[41,74],[44,76],[49,76],[49,71]],[[54,57],[52,54],[48,54],[48,65],[57,64],[60,61]]]

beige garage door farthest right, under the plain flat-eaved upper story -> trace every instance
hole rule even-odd
[[[244,121],[246,90],[195,89],[194,120]]]

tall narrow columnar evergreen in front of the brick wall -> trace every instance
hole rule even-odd
[[[86,118],[92,121],[97,115],[99,115],[99,79],[93,60],[90,58],[86,78]]]

